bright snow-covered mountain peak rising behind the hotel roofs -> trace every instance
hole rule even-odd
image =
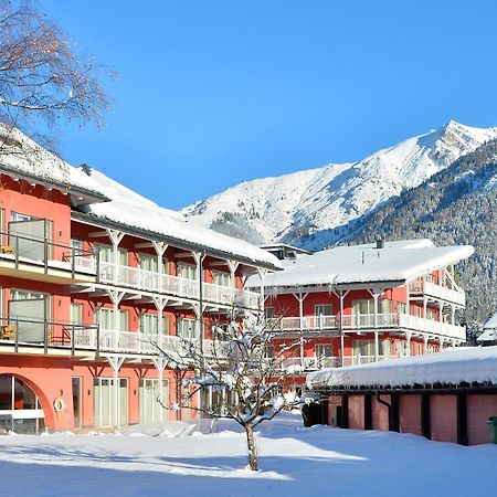
[[[496,137],[497,128],[451,120],[358,162],[244,181],[182,212],[251,242],[281,241],[318,250],[348,235],[363,214]]]

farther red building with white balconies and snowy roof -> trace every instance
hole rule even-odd
[[[298,384],[317,369],[458,346],[466,340],[458,324],[466,299],[454,264],[472,253],[429,240],[294,253],[264,282],[277,337],[271,353],[299,342],[285,361]]]

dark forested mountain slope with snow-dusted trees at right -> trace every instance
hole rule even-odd
[[[475,246],[457,267],[468,300],[466,321],[485,322],[497,306],[497,139],[461,157],[414,189],[355,223],[347,243],[377,237],[431,239]],[[469,335],[476,328],[469,326]]]

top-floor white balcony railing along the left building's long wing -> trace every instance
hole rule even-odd
[[[165,293],[182,298],[200,298],[198,281],[170,274],[159,274],[139,267],[115,265],[101,261],[98,277],[102,283],[106,284],[146,292]],[[202,283],[202,298],[205,302],[226,306],[234,305],[252,309],[257,309],[260,306],[260,294],[213,283]]]

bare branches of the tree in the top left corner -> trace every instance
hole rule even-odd
[[[77,55],[34,1],[0,0],[0,121],[8,125],[0,152],[11,145],[9,127],[33,136],[36,126],[50,129],[59,120],[102,125],[109,99],[101,81],[109,75],[93,59]],[[40,138],[46,141],[47,135]]]

